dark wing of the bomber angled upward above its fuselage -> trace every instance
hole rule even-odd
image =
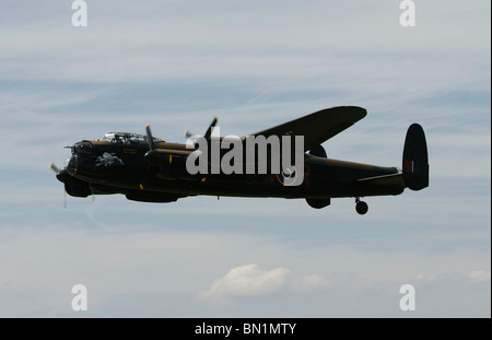
[[[365,117],[358,106],[337,106],[281,124],[249,136],[304,136],[304,151],[311,150]]]

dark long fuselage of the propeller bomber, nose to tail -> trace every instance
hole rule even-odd
[[[71,178],[85,183],[84,196],[124,194],[149,201],[166,201],[186,196],[235,196],[279,198],[336,198],[399,195],[405,184],[374,187],[363,178],[398,174],[396,167],[384,167],[304,155],[304,180],[300,186],[284,185],[279,174],[196,174],[189,175],[179,152],[190,152],[186,144],[160,142],[160,150],[169,150],[169,162],[153,166],[145,161],[147,144],[118,145],[108,141],[82,141],[72,148],[67,172]],[[70,181],[70,177],[66,177]],[[70,189],[68,190],[70,194]],[[85,192],[85,194],[84,194]],[[160,195],[162,194],[162,195]]]

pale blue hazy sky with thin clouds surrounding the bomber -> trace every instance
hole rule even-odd
[[[491,2],[0,0],[0,317],[490,317]],[[107,131],[185,142],[339,105],[367,117],[328,156],[401,166],[425,129],[431,184],[304,200],[68,198],[48,168]],[[89,310],[71,309],[85,284]],[[402,284],[417,310],[401,312]]]

